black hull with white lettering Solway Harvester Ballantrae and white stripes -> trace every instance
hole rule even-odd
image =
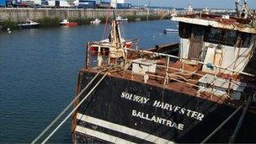
[[[81,71],[77,91],[93,76]],[[160,102],[168,106],[163,109],[157,105]],[[201,142],[236,109],[170,89],[108,76],[74,115],[73,142]],[[242,112],[234,115],[207,142],[228,142]],[[236,142],[255,143],[255,130],[256,115],[248,112]]]

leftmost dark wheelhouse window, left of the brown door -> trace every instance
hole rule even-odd
[[[179,22],[179,36],[183,39],[189,39],[191,37],[192,24],[185,24]]]

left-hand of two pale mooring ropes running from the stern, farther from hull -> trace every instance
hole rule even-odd
[[[93,81],[95,80],[95,78],[99,76],[99,73],[100,73],[100,72],[102,72],[102,71],[99,71],[99,72],[93,77],[93,79],[88,83],[88,85],[87,85],[85,88],[83,88],[83,90],[82,90],[80,93],[77,94],[77,96],[72,100],[72,102],[71,102],[70,104],[68,104],[67,107],[61,112],[61,114],[58,115],[55,120],[52,120],[52,121],[51,121],[51,124],[48,125],[48,126],[45,128],[45,130],[42,131],[42,132],[40,133],[40,135],[35,138],[34,141],[31,142],[31,144],[35,144],[36,141],[40,140],[40,138],[45,135],[45,132],[47,132],[47,131],[51,128],[51,126],[54,125],[54,124],[56,123],[56,121],[59,120],[63,114],[66,113],[67,109],[69,109],[69,108],[72,106],[72,104],[84,93],[84,91],[87,90],[87,88],[93,83]]]

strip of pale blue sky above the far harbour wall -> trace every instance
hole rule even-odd
[[[189,4],[193,8],[235,8],[236,0],[125,0],[125,3],[133,5],[147,5],[150,1],[151,6],[184,8]],[[248,0],[249,8],[256,8],[256,0]]]

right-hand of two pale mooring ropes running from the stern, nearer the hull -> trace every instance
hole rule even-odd
[[[91,93],[93,93],[93,90],[99,86],[99,83],[102,82],[102,80],[104,79],[104,77],[107,76],[107,74],[108,74],[108,72],[106,72],[106,73],[104,74],[104,76],[101,77],[101,79],[99,80],[99,82],[96,83],[96,85],[92,88],[92,90],[80,101],[79,104],[77,104],[77,106],[76,106],[74,109],[72,109],[72,111],[69,113],[69,115],[67,115],[67,117],[66,117],[64,120],[61,121],[61,124],[58,125],[58,126],[56,127],[56,129],[55,129],[54,131],[52,131],[51,134],[45,138],[45,140],[42,142],[42,144],[45,144],[45,142],[47,142],[47,141],[51,138],[51,136],[55,134],[55,132],[61,127],[61,125],[63,125],[63,124],[67,121],[67,119],[79,108],[79,106],[80,106],[81,104],[83,104],[83,101],[84,101],[85,99],[87,99],[88,96],[89,96]]]

